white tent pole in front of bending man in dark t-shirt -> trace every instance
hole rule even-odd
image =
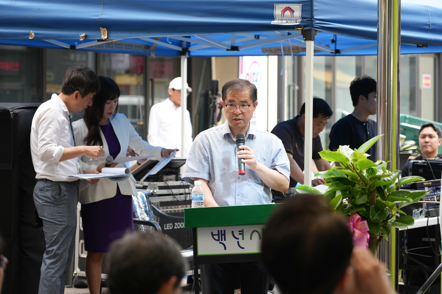
[[[316,30],[302,30],[305,41],[304,185],[312,186],[313,48]]]

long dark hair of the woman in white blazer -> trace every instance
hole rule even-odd
[[[107,100],[115,100],[120,97],[120,88],[113,79],[108,77],[99,77],[101,88],[98,93],[92,98],[92,106],[86,108],[84,112],[84,123],[88,127],[88,135],[84,138],[86,145],[103,145],[103,141],[100,136],[99,122],[103,119],[104,105]],[[110,119],[113,119],[118,112],[118,103],[115,108],[114,114]]]

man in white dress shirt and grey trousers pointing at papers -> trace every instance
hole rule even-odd
[[[99,79],[90,68],[70,67],[61,93],[53,94],[40,105],[32,119],[30,149],[38,179],[34,203],[43,220],[46,241],[38,294],[65,292],[65,274],[75,244],[78,202],[78,180],[68,175],[82,173],[78,157],[104,156],[100,146],[76,146],[71,112],[81,113],[92,105],[92,97],[99,88]],[[88,180],[91,184],[97,181]]]

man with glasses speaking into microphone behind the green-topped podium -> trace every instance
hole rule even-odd
[[[289,188],[290,163],[282,141],[250,123],[257,99],[249,81],[225,83],[221,103],[227,121],[201,132],[192,144],[183,179],[201,181],[206,207],[268,204],[271,189],[285,193]],[[267,293],[270,276],[260,262],[205,264],[206,292],[232,293],[237,271],[242,294]]]

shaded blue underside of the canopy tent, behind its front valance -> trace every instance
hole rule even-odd
[[[287,35],[291,33],[290,39],[282,41],[273,41],[271,43],[259,45],[272,41],[278,36]],[[256,37],[255,37],[256,36]],[[259,39],[257,39],[259,37]],[[156,56],[180,56],[181,55],[181,41],[184,37],[162,37],[159,40],[154,40],[152,43],[148,40],[140,38],[121,39],[118,41],[91,41],[78,39],[6,39],[0,38],[1,45],[18,45],[38,48],[56,48],[56,49],[76,49],[79,51],[92,52],[108,52],[108,53],[129,53],[141,55],[156,55]],[[224,43],[226,47],[230,46],[232,35],[219,34],[210,35],[210,38]],[[146,38],[147,39],[147,38]],[[281,55],[281,45],[284,47],[284,54],[305,55],[305,43],[302,42],[301,33],[289,31],[277,32],[258,32],[258,33],[237,33],[235,34],[235,44],[238,45],[238,51],[227,51],[226,48],[217,46],[214,43],[207,42],[200,37],[191,36],[186,37],[190,43],[188,57],[207,57],[207,56],[267,56]],[[334,42],[332,42],[334,41]],[[260,43],[258,43],[260,42]],[[282,44],[281,44],[282,43]],[[154,44],[157,44],[154,49]],[[204,44],[204,45],[202,45]],[[245,45],[247,48],[242,48]],[[290,52],[290,45],[294,46]],[[337,36],[331,33],[318,33],[315,38],[315,55],[330,56],[330,55],[376,55],[377,41],[360,39],[354,37]],[[83,47],[85,46],[85,47]],[[250,46],[250,47],[249,47]],[[304,48],[301,52],[301,48]],[[278,52],[274,52],[277,49]],[[273,53],[272,53],[273,50]],[[336,53],[335,53],[336,52]],[[404,44],[401,47],[402,54],[416,54],[416,53],[438,53],[442,52],[442,46],[428,45],[427,48],[417,48],[416,45]]]

